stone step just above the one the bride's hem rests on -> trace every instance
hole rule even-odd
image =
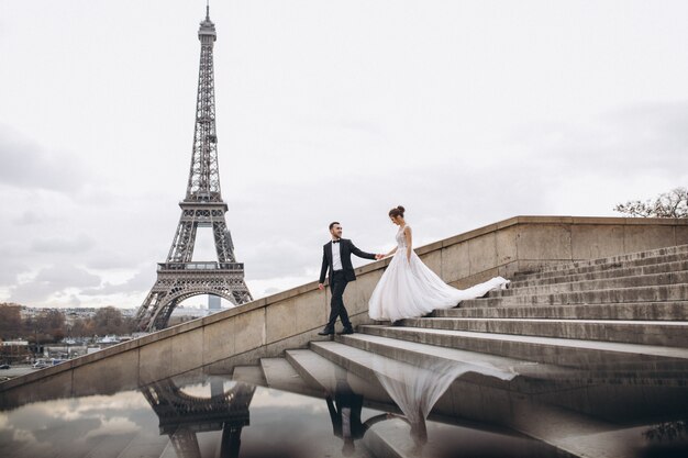
[[[433,317],[688,321],[688,301],[440,309]]]

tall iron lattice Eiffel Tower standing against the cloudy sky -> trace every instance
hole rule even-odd
[[[177,304],[193,295],[219,295],[235,305],[253,300],[244,281],[244,265],[234,258],[224,219],[228,205],[220,193],[212,57],[217,34],[208,5],[198,38],[201,59],[189,182],[186,198],[179,203],[181,217],[167,260],[158,264],[157,280],[136,313],[138,326],[145,331],[164,328]],[[191,261],[198,227],[212,227],[217,261]]]

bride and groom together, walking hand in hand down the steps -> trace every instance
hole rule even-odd
[[[392,223],[399,226],[399,231],[396,235],[397,246],[387,255],[373,255],[362,252],[352,241],[342,238],[340,223],[330,224],[332,241],[323,246],[322,268],[318,287],[323,289],[325,275],[329,273],[332,300],[330,320],[324,329],[319,333],[320,335],[334,334],[334,323],[337,316],[344,325],[343,334],[354,333],[342,299],[346,284],[356,279],[351,260],[352,254],[366,259],[381,259],[393,255],[368,302],[368,314],[374,320],[395,322],[401,319],[422,316],[436,309],[456,306],[466,299],[479,298],[509,282],[504,278],[495,277],[466,290],[446,284],[413,252],[411,226],[407,224],[403,213],[404,209],[401,205],[389,211],[389,217]]]

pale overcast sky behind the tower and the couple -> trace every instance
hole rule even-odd
[[[379,253],[398,204],[423,245],[688,185],[686,1],[210,8],[222,196],[255,298],[317,280],[331,221]],[[0,302],[145,299],[186,193],[204,10],[0,0]],[[213,259],[209,231],[197,246]]]

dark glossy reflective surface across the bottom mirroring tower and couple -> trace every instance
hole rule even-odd
[[[418,366],[367,358],[352,372],[321,365],[318,390],[288,384],[300,394],[202,371],[109,395],[59,399],[63,390],[44,389],[42,399],[54,400],[31,403],[5,394],[0,457],[373,458],[380,440],[408,456],[556,456],[543,442],[580,456],[687,456],[685,360],[578,369],[497,357]]]

